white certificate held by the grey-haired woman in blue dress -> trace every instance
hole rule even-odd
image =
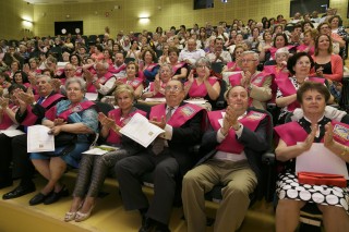
[[[49,127],[32,125],[27,133],[27,152],[44,152],[55,150],[55,136],[48,134]]]

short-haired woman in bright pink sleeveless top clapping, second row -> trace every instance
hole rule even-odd
[[[210,62],[207,58],[200,58],[195,66],[197,77],[194,77],[194,71],[191,71],[185,83],[185,94],[190,98],[205,98],[212,105],[219,97],[219,82],[210,76]],[[210,110],[212,107],[207,108]]]

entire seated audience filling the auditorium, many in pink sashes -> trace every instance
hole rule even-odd
[[[273,149],[268,129],[277,122],[275,152],[285,168],[277,182],[276,231],[294,231],[308,202],[317,204],[326,231],[349,231],[348,188],[322,185],[324,193],[294,175],[296,157],[313,143],[349,163],[349,115],[326,106],[341,102],[349,37],[340,23],[329,9],[323,17],[313,12],[290,22],[278,15],[246,25],[233,20],[231,26],[157,27],[120,32],[116,39],[106,33],[89,41],[71,34],[19,45],[1,40],[0,188],[13,184],[13,172],[21,179],[2,198],[35,192],[37,170],[47,183],[29,205],[53,204],[69,195],[61,182],[67,168],[77,168],[64,220],[80,222],[91,217],[111,171],[124,208],[140,211],[140,231],[169,231],[178,196],[188,231],[205,231],[205,194],[220,184],[215,231],[236,231],[251,194],[264,183],[262,155]],[[112,109],[101,112],[98,101]],[[279,111],[272,115],[268,106]],[[120,133],[135,113],[165,131],[148,147]],[[298,118],[289,122],[291,114]],[[55,151],[27,152],[26,133],[36,124],[50,129]],[[14,130],[23,133],[4,133]],[[99,144],[118,149],[83,155],[96,134]],[[147,172],[154,173],[152,202],[142,192]]]

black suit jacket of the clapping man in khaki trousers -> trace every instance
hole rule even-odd
[[[258,180],[261,179],[262,154],[269,148],[269,142],[267,139],[267,126],[268,118],[266,117],[260,122],[255,132],[251,131],[246,126],[243,126],[241,136],[238,138],[238,142],[244,146],[244,152],[248,157],[248,161]],[[213,158],[217,152],[216,147],[218,145],[217,132],[210,129],[203,136],[200,154],[205,155],[196,163],[196,166]]]

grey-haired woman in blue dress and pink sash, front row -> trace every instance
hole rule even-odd
[[[61,100],[48,110],[43,125],[50,127],[56,143],[62,135],[75,134],[76,141],[69,145],[56,145],[55,151],[31,154],[33,164],[48,183],[29,200],[29,205],[40,203],[49,205],[68,195],[68,190],[60,183],[60,179],[67,166],[79,167],[81,152],[89,147],[89,135],[98,131],[95,103],[84,97],[85,82],[79,77],[69,78],[65,82],[65,89],[68,100]]]

